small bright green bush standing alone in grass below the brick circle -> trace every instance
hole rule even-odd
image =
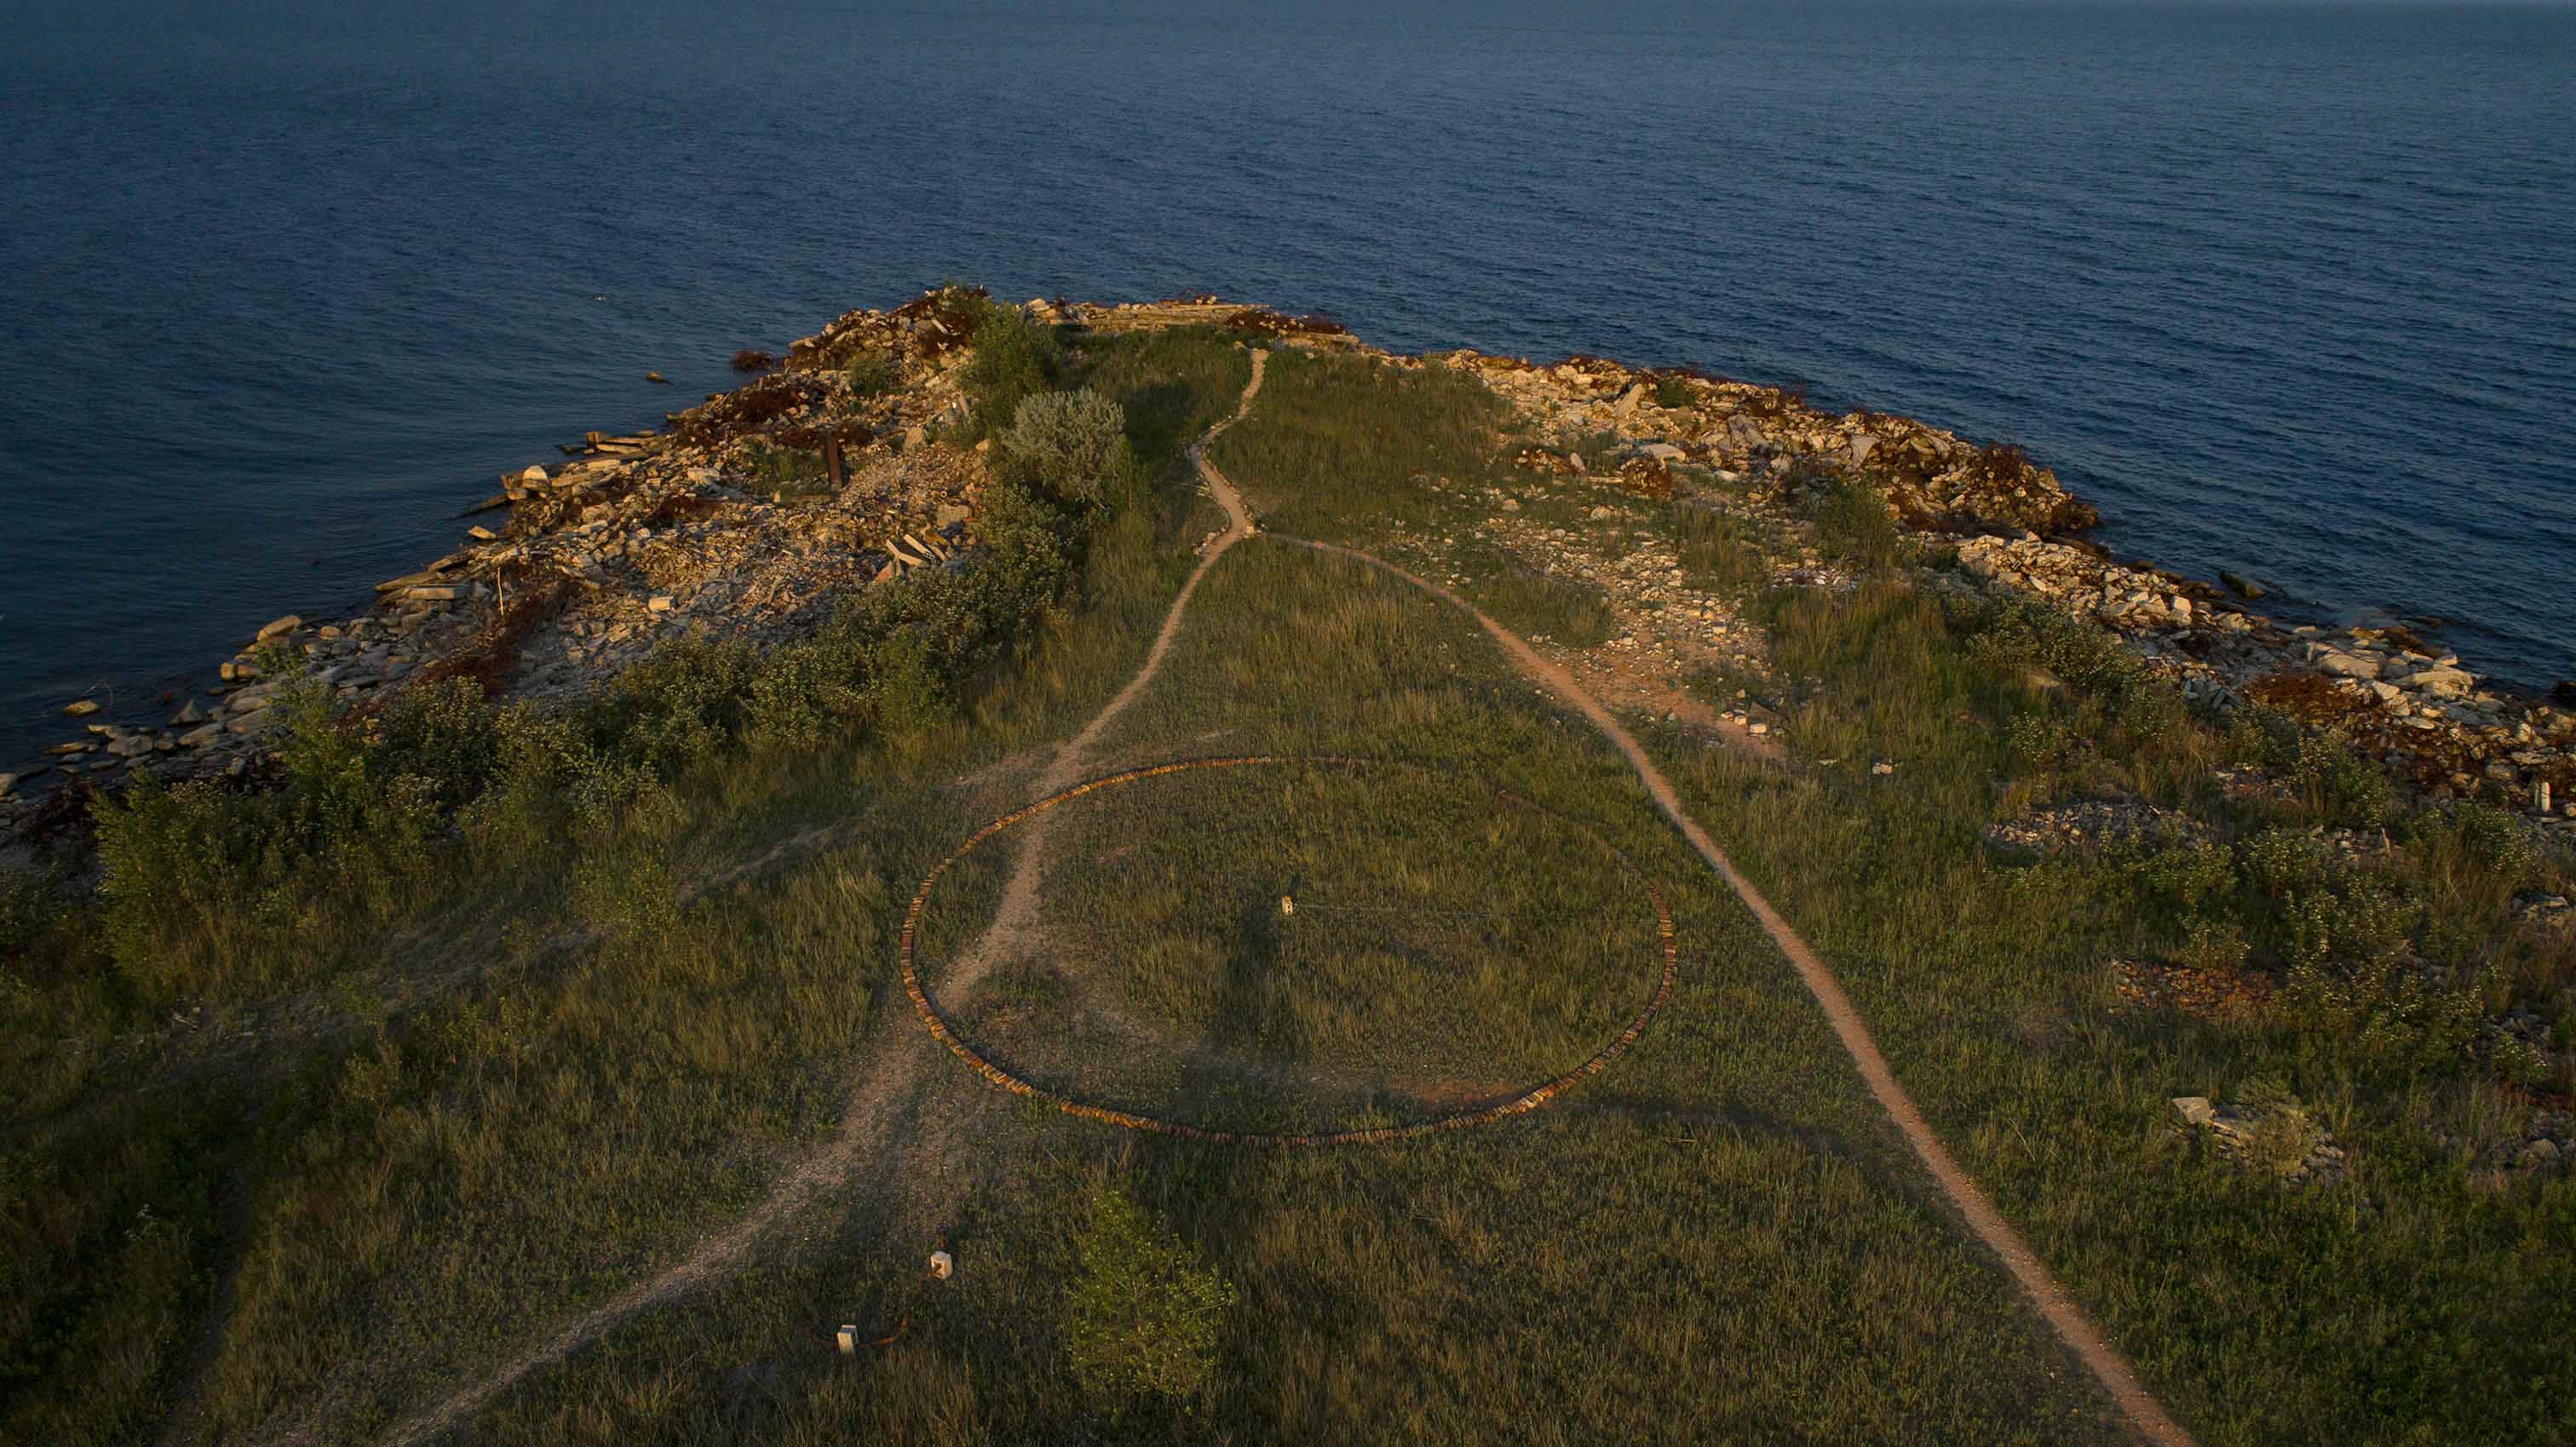
[[[1118,1190],[1092,1192],[1064,1290],[1066,1359],[1082,1393],[1123,1414],[1146,1398],[1193,1403],[1216,1375],[1234,1285]]]

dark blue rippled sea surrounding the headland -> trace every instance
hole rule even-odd
[[[1803,384],[2020,440],[2120,551],[2576,675],[2568,8],[0,21],[0,770],[951,275]]]

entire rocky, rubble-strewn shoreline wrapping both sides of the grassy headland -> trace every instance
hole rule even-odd
[[[2264,703],[2347,731],[2434,798],[2488,796],[2576,832],[2576,685],[2532,698],[2481,685],[2403,628],[2282,626],[2249,597],[2084,543],[2092,507],[2014,448],[1973,445],[1909,417],[1826,415],[1798,394],[1687,368],[1602,358],[1533,366],[1479,353],[1388,355],[1329,322],[1218,299],[1030,301],[1046,322],[1097,332],[1218,324],[1273,345],[1358,350],[1391,366],[1461,368],[1535,438],[1525,469],[1597,476],[1602,489],[1780,510],[1816,474],[1857,474],[1893,515],[1955,556],[1968,587],[2048,600],[2120,633],[2187,695]],[[255,778],[273,703],[299,677],[355,711],[397,690],[471,677],[489,695],[564,698],[677,636],[773,644],[822,623],[853,590],[920,566],[971,566],[989,471],[940,440],[963,420],[966,314],[933,291],[850,312],[788,348],[744,353],[744,386],[672,412],[662,433],[600,435],[569,461],[528,466],[469,510],[456,551],[376,587],[327,623],[278,618],[216,667],[167,724],[82,724],[44,762],[0,772],[0,832],[41,837],[85,814],[90,790],[137,767],[155,778]],[[1587,453],[1592,461],[1587,461]],[[1515,528],[1497,494],[1497,525]],[[1785,582],[1829,582],[1808,559]],[[2251,592],[2251,590],[2246,590]],[[1716,644],[1757,651],[1757,639]],[[1610,649],[1638,646],[1633,636]],[[95,713],[72,700],[72,721]],[[1734,718],[1747,724],[1747,718]]]

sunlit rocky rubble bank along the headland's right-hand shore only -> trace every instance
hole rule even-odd
[[[1801,476],[1855,474],[1904,528],[1955,556],[1963,584],[2102,623],[2187,698],[2339,729],[2427,798],[2486,796],[2576,834],[2576,685],[2550,695],[2494,687],[2406,628],[2280,623],[2231,587],[2120,561],[2079,538],[2097,520],[2092,507],[2014,448],[1978,448],[1909,417],[1837,417],[1795,394],[1690,371],[1476,353],[1425,360],[1481,373],[1548,430],[1525,466],[1582,471],[1571,448],[1613,438],[1625,461],[1605,481],[1692,502],[1687,469],[1705,469],[1726,492],[1700,502],[1747,520],[1785,518]],[[1829,582],[1829,572],[1808,551],[1780,582]]]

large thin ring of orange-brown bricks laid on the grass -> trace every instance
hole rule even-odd
[[[1386,762],[1376,762],[1376,760],[1301,757],[1301,754],[1242,754],[1242,757],[1224,757],[1224,760],[1182,760],[1182,762],[1170,762],[1170,765],[1149,765],[1149,767],[1141,767],[1141,770],[1126,770],[1126,772],[1115,772],[1115,775],[1103,775],[1103,778],[1095,778],[1090,783],[1077,783],[1074,788],[1066,788],[1061,793],[1051,793],[1051,796],[1046,796],[1046,798],[1041,798],[1041,801],[1036,801],[1036,803],[1030,803],[1025,808],[1015,808],[1015,811],[994,819],[992,824],[976,829],[945,860],[940,860],[938,865],[933,865],[933,870],[922,878],[922,888],[917,888],[912,893],[912,906],[904,911],[904,937],[902,937],[902,948],[899,948],[902,963],[904,963],[904,994],[912,996],[912,1009],[920,1012],[922,1025],[930,1030],[930,1035],[940,1045],[948,1045],[951,1056],[956,1056],[956,1058],[966,1061],[969,1066],[974,1066],[974,1071],[979,1076],[984,1076],[987,1081],[1007,1089],[1010,1094],[1020,1094],[1020,1097],[1028,1097],[1028,1099],[1041,1099],[1046,1105],[1054,1105],[1056,1110],[1061,1110],[1066,1115],[1079,1115],[1082,1120],[1100,1120],[1100,1123],[1118,1125],[1118,1128],[1126,1128],[1126,1130],[1149,1130],[1154,1135],[1180,1135],[1185,1141],[1208,1141],[1208,1143],[1218,1143],[1218,1146],[1378,1146],[1378,1143],[1388,1143],[1388,1141],[1412,1141],[1417,1135],[1435,1135],[1440,1130],[1463,1130],[1468,1125],[1489,1125],[1489,1123],[1504,1120],[1510,1115],[1525,1115],[1530,1110],[1538,1110],[1540,1105],[1546,1105],[1551,1097],[1556,1097],[1558,1092],[1564,1092],[1574,1081],[1582,1081],[1584,1076],[1600,1074],[1602,1066],[1607,1066],[1613,1058],[1618,1058],[1620,1050],[1625,1050],[1628,1045],[1633,1045],[1636,1038],[1646,1032],[1646,1025],[1656,1017],[1656,1012],[1664,1009],[1664,1002],[1672,996],[1672,978],[1677,973],[1677,948],[1674,948],[1674,935],[1672,935],[1672,911],[1664,909],[1664,891],[1656,888],[1654,881],[1646,878],[1628,860],[1628,855],[1623,855],[1618,850],[1618,845],[1613,845],[1610,839],[1602,839],[1597,829],[1577,824],[1574,819],[1566,819],[1564,814],[1556,814],[1553,808],[1538,806],[1538,803],[1533,803],[1528,798],[1520,798],[1520,796],[1515,796],[1510,790],[1497,788],[1494,793],[1499,798],[1504,798],[1507,803],[1517,803],[1522,808],[1538,811],[1538,814],[1553,819],[1556,824],[1564,824],[1566,829],[1574,829],[1584,839],[1592,839],[1595,845],[1600,845],[1600,850],[1605,855],[1610,855],[1610,860],[1615,860],[1623,870],[1628,870],[1636,878],[1636,883],[1646,891],[1646,901],[1654,906],[1654,932],[1656,932],[1656,942],[1659,942],[1662,955],[1664,955],[1664,978],[1654,986],[1654,996],[1646,1002],[1643,1009],[1636,1012],[1636,1020],[1631,1020],[1628,1027],[1620,1030],[1615,1040],[1610,1040],[1607,1045],[1602,1045],[1600,1050],[1595,1050],[1592,1058],[1587,1058],[1584,1063],[1574,1066],[1571,1071],[1566,1071],[1566,1074],[1561,1074],[1561,1076],[1556,1076],[1556,1079],[1551,1079],[1551,1081],[1546,1081],[1540,1087],[1533,1087],[1533,1089],[1528,1089],[1528,1092],[1522,1092],[1522,1094],[1517,1094],[1517,1097],[1512,1097],[1512,1099],[1507,1099],[1502,1105],[1489,1105],[1489,1107],[1481,1107],[1481,1110],[1461,1110],[1455,1115],[1440,1115],[1435,1120],[1417,1120],[1412,1125],[1378,1125],[1378,1128],[1370,1128],[1370,1130],[1324,1130],[1324,1133],[1309,1133],[1309,1135],[1278,1135],[1278,1133],[1260,1133],[1260,1130],[1213,1130],[1213,1128],[1206,1128],[1206,1125],[1185,1125],[1185,1123],[1177,1123],[1177,1120],[1159,1120],[1154,1115],[1136,1115],[1131,1110],[1110,1110],[1105,1105],[1087,1105],[1087,1102],[1079,1102],[1079,1099],[1074,1099],[1069,1094],[1061,1094],[1061,1092],[1046,1089],[1041,1084],[1025,1081],[1025,1079],[1010,1074],[1007,1069],[992,1063],[989,1058],[984,1058],[981,1050],[976,1050],[974,1045],[969,1045],[966,1038],[961,1038],[956,1030],[948,1027],[948,1020],[940,1017],[938,1002],[930,999],[927,989],[922,989],[922,976],[920,976],[920,968],[917,968],[917,960],[914,960],[914,935],[917,935],[920,922],[922,922],[922,909],[930,904],[930,891],[940,883],[940,875],[948,873],[948,865],[963,860],[966,855],[971,855],[979,845],[984,845],[994,834],[999,834],[999,832],[1005,832],[1005,829],[1010,829],[1015,824],[1023,824],[1023,821],[1028,821],[1028,819],[1033,819],[1038,814],[1046,814],[1048,808],[1056,808],[1059,803],[1069,803],[1074,798],[1082,798],[1084,793],[1092,793],[1092,790],[1118,788],[1118,785],[1128,785],[1128,783],[1139,783],[1139,780],[1149,780],[1149,778],[1177,775],[1177,772],[1190,772],[1190,770],[1234,770],[1234,767],[1252,767],[1252,765],[1337,765],[1337,767],[1363,767],[1363,770],[1365,767],[1406,767],[1406,765],[1386,765]]]

